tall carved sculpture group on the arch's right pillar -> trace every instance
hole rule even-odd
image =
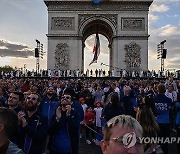
[[[127,68],[139,68],[141,66],[141,47],[131,42],[125,45],[125,64]]]

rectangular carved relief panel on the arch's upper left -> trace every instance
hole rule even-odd
[[[74,30],[75,19],[74,17],[52,17],[51,29],[52,30]]]

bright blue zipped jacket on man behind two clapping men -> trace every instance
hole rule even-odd
[[[56,108],[59,106],[59,100],[56,97],[49,99],[47,96],[44,96],[41,103],[40,112],[43,116],[48,118],[48,123],[51,120],[51,117],[55,113]]]

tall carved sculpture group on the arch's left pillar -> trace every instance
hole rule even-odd
[[[59,43],[55,50],[55,68],[68,69],[69,68],[69,51],[66,43]]]

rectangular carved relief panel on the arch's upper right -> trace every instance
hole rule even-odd
[[[144,31],[145,19],[144,18],[122,18],[121,20],[122,31]]]

